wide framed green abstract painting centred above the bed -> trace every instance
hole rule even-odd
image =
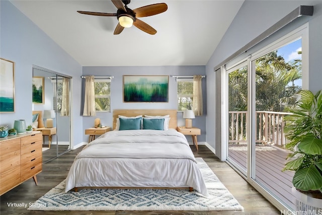
[[[123,102],[169,102],[169,76],[123,76]]]

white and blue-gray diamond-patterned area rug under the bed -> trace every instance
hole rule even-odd
[[[65,193],[65,181],[28,210],[243,210],[202,158],[196,158],[209,196],[188,189],[80,189]]]

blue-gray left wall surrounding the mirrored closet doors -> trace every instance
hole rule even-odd
[[[15,119],[32,124],[32,65],[73,77],[74,143],[84,141],[81,106],[82,66],[9,1],[0,1],[0,54],[15,62],[15,112],[1,113],[0,124],[13,127]]]

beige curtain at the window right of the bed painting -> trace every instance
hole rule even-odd
[[[193,111],[202,116],[202,76],[193,76]]]

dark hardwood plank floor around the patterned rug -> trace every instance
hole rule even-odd
[[[33,179],[29,179],[18,187],[10,190],[0,197],[0,213],[13,214],[117,214],[117,215],[162,215],[162,214],[184,214],[184,215],[209,215],[209,214],[281,214],[270,202],[250,186],[225,162],[220,162],[217,157],[206,146],[199,146],[199,152],[194,146],[191,149],[195,157],[203,158],[208,166],[217,175],[220,181],[227,187],[232,195],[244,207],[244,211],[32,211],[24,207],[11,207],[9,203],[29,203],[36,201],[39,197],[55,187],[68,174],[69,168],[76,154],[81,149],[69,151],[60,157],[43,164],[43,171],[37,175],[38,186]],[[27,207],[28,207],[27,206]]]

